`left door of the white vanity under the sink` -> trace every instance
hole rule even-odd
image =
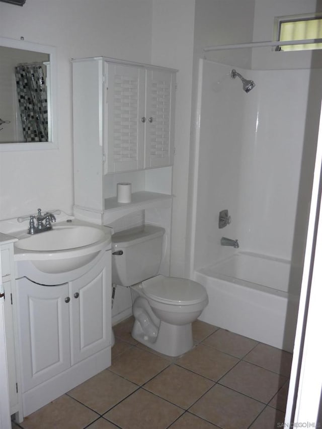
[[[17,287],[26,392],[70,367],[70,302],[68,283],[42,286],[22,278]]]

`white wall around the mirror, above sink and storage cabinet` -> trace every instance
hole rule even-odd
[[[58,149],[0,153],[0,220],[73,204],[70,58],[151,62],[151,0],[0,3],[0,36],[51,45],[58,60]]]

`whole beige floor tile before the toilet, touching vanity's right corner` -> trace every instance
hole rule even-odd
[[[128,353],[120,355],[109,370],[141,385],[169,365],[167,360],[134,347]]]

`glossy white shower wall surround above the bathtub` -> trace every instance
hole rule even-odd
[[[230,70],[203,64],[197,269],[231,252],[219,243],[222,207],[232,218],[225,235],[243,250],[292,258],[309,79],[319,70],[237,69],[256,82],[249,94]]]

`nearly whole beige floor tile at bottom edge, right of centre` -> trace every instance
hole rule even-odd
[[[216,384],[189,411],[223,429],[246,429],[264,407],[255,399]]]

